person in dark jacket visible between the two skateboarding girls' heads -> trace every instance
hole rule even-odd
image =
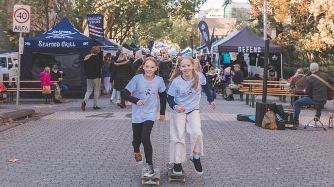
[[[166,92],[169,88],[170,73],[173,68],[172,59],[169,58],[168,54],[165,53],[159,61],[159,75],[164,79]]]

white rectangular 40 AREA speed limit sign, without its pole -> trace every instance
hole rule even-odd
[[[30,31],[30,6],[14,5],[13,32]]]

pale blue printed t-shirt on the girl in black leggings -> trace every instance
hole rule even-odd
[[[130,80],[125,89],[134,93],[134,97],[144,101],[144,106],[132,105],[132,122],[155,121],[158,92],[166,90],[164,79],[155,75],[153,80],[147,80],[144,74],[138,74]]]

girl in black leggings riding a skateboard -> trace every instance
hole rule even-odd
[[[154,175],[153,150],[150,140],[151,131],[156,118],[158,95],[160,100],[160,121],[165,119],[166,87],[162,77],[158,76],[159,67],[154,57],[147,57],[122,94],[122,98],[134,103],[132,105],[132,146],[137,163],[142,163],[140,144],[143,143],[146,158],[146,173]],[[131,96],[131,93],[134,93]]]

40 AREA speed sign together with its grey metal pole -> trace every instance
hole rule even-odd
[[[30,6],[14,5],[13,11],[13,32],[20,33],[19,40],[19,62],[17,67],[17,82],[16,82],[16,110],[19,108],[20,97],[20,74],[21,74],[21,54],[23,54],[23,37],[22,33],[30,31]]]

